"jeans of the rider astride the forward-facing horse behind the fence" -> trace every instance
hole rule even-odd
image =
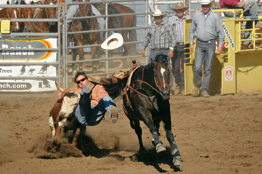
[[[66,12],[66,16],[68,18],[74,17],[78,8],[79,8],[79,5],[71,5]],[[91,4],[91,8],[92,8],[92,12],[93,12],[93,14],[95,14],[95,16],[101,16],[101,13],[92,4]],[[96,19],[97,19],[97,22],[98,22],[99,30],[104,30],[105,29],[105,19],[102,18],[102,17],[98,17]],[[69,30],[71,23],[72,23],[72,19],[67,20],[67,30]],[[102,38],[102,37],[103,37],[103,32],[100,32],[100,38]]]

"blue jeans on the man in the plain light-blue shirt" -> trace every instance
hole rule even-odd
[[[209,82],[211,77],[211,68],[215,56],[216,50],[216,40],[213,39],[208,42],[202,42],[197,40],[196,50],[195,50],[195,65],[194,65],[194,75],[195,75],[195,86],[201,88],[201,94],[203,92],[208,92]],[[202,65],[205,62],[205,71],[202,81]]]

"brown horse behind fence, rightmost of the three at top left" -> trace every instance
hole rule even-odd
[[[54,0],[45,0],[44,4],[56,4]],[[56,8],[41,8],[40,13],[37,15],[36,19],[54,19],[56,18]],[[34,22],[33,32],[49,32],[50,27],[56,22]]]

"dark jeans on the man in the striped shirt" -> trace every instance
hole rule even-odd
[[[186,52],[189,50],[185,50],[188,45],[176,45],[176,49],[174,50],[174,57],[171,58],[172,60],[172,73],[175,77],[175,82],[177,86],[179,86],[179,90],[185,90],[185,68],[184,64],[189,63],[189,59],[185,59],[189,57],[189,55],[185,55]],[[180,73],[180,58],[182,58],[181,68],[182,72]]]

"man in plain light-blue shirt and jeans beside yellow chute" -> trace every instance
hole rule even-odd
[[[222,53],[222,46],[224,44],[225,35],[220,16],[210,9],[214,2],[215,1],[202,0],[202,11],[194,14],[189,30],[189,51],[191,53],[194,51],[194,38],[197,38],[194,64],[195,87],[192,91],[192,96],[194,97],[199,95],[200,87],[202,87],[201,95],[203,97],[209,97],[208,89],[217,36],[219,37],[218,54]],[[205,62],[205,72],[202,83],[203,62]]]

